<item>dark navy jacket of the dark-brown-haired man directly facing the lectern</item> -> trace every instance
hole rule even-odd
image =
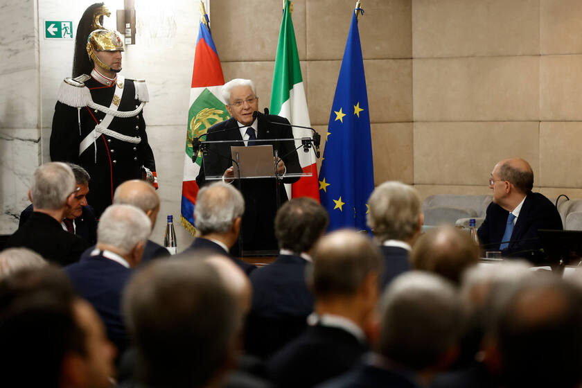
[[[252,308],[247,317],[247,351],[266,357],[297,337],[313,311],[313,296],[305,283],[307,261],[301,256],[279,255],[250,278]]]

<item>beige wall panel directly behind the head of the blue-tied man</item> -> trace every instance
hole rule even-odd
[[[414,183],[486,186],[508,157],[526,159],[538,175],[539,143],[537,122],[414,123]]]

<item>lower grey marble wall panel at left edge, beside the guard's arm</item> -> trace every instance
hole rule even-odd
[[[0,234],[18,228],[20,212],[30,204],[28,189],[39,165],[37,129],[0,129]]]

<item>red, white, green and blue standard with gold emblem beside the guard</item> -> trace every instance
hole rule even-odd
[[[227,120],[229,114],[220,89],[224,76],[209,28],[209,18],[201,5],[202,17],[194,55],[192,88],[190,89],[190,109],[188,111],[188,134],[186,136],[186,155],[184,156],[184,180],[182,182],[182,216],[180,222],[188,231],[195,234],[194,206],[198,185],[196,177],[200,172],[202,154],[199,152],[193,162],[192,140],[205,134],[209,127]]]

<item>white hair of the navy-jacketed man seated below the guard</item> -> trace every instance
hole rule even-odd
[[[148,240],[152,222],[143,211],[132,205],[111,205],[97,225],[97,243],[111,245],[128,254],[139,242]]]

